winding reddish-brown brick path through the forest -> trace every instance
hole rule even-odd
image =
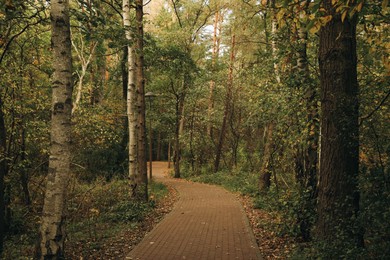
[[[236,197],[207,184],[168,178],[167,164],[153,163],[153,178],[179,192],[174,209],[126,259],[261,259]]]

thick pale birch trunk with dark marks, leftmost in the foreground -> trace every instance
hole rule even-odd
[[[69,2],[52,0],[50,15],[54,61],[51,143],[37,254],[41,259],[60,259],[64,258],[64,209],[71,160],[73,82]]]

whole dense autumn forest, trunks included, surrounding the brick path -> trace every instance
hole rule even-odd
[[[1,0],[0,255],[142,219],[152,158],[273,212],[284,258],[387,258],[389,34],[387,0]]]

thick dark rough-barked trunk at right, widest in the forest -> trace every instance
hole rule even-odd
[[[359,212],[356,17],[344,22],[331,0],[323,1],[332,20],[320,30],[321,156],[317,234],[334,242],[362,243],[354,219]]]

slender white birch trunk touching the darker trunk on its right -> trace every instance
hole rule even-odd
[[[131,23],[130,23],[130,3],[129,0],[123,0],[123,25],[125,27],[125,35],[127,42],[127,51],[125,51],[124,56],[127,56],[127,79],[126,86],[126,104],[127,104],[127,126],[128,126],[128,135],[129,135],[129,181],[130,188],[133,197],[139,196],[139,185],[141,185],[141,177],[138,174],[138,132],[137,128],[137,116],[136,116],[136,63],[135,63],[135,49],[133,47],[132,41],[133,36],[131,33]],[[127,55],[126,55],[127,54]],[[123,69],[123,68],[122,68]]]

